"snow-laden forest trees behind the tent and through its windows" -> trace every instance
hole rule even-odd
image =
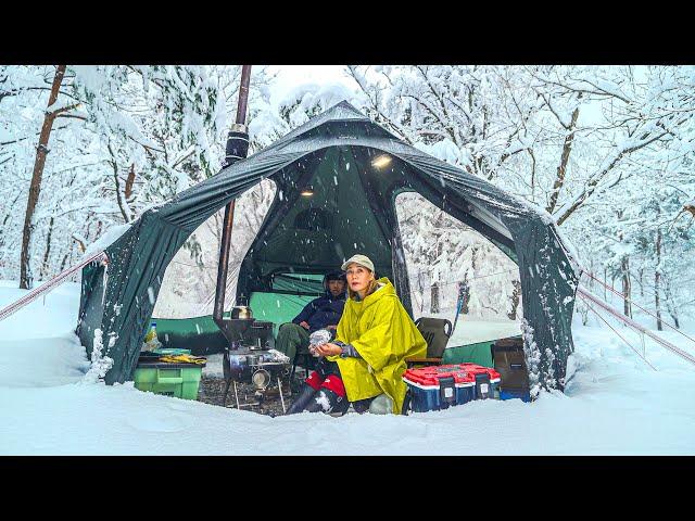
[[[219,171],[240,69],[0,66],[0,279],[24,289],[49,280]],[[580,264],[630,297],[626,315],[634,301],[657,329],[695,316],[695,66],[345,66],[344,75],[271,103],[277,78],[254,66],[250,154],[348,100],[547,213]],[[238,201],[230,283],[274,196],[263,181]],[[518,271],[502,252],[422,198],[396,204],[414,312],[451,308],[463,283],[464,314],[517,318]],[[220,220],[169,265],[157,316],[212,310]]]

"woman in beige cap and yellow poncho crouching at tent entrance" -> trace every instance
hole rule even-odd
[[[401,414],[407,390],[402,378],[405,358],[425,357],[427,343],[393,284],[386,277],[376,279],[367,256],[354,255],[342,268],[348,275],[349,298],[338,334],[334,341],[316,347],[325,358],[287,414],[344,414],[350,402],[361,414],[368,409]]]

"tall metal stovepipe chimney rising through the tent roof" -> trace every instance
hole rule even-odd
[[[239,102],[237,104],[237,119],[229,129],[227,136],[227,149],[223,168],[227,168],[239,160],[247,157],[249,153],[249,132],[245,125],[247,104],[249,101],[249,82],[251,79],[251,65],[241,66],[241,84],[239,86]],[[217,285],[215,288],[215,308],[213,320],[231,341],[228,331],[223,327],[223,313],[225,308],[225,293],[227,290],[227,268],[229,264],[229,246],[231,244],[231,229],[235,223],[235,201],[231,200],[225,207],[225,218],[222,229],[222,241],[219,244],[219,262],[217,265]]]

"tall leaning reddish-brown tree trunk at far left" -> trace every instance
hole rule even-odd
[[[66,65],[58,65],[55,67],[55,77],[51,86],[51,94],[48,99],[46,116],[43,117],[43,126],[39,135],[39,144],[36,148],[36,161],[34,162],[34,171],[31,174],[31,185],[29,187],[29,199],[26,204],[26,214],[24,217],[24,231],[22,236],[22,254],[20,257],[20,288],[28,290],[34,284],[31,276],[31,233],[34,232],[34,212],[41,192],[41,177],[43,176],[43,166],[46,165],[46,155],[48,154],[48,140],[51,137],[53,122],[58,115],[58,111],[52,111],[51,105],[58,99],[63,76],[65,75]]]

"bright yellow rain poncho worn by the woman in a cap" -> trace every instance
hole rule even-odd
[[[393,399],[393,412],[400,415],[407,390],[402,379],[405,358],[425,357],[427,343],[389,279],[378,282],[386,285],[364,301],[349,298],[338,322],[336,340],[352,344],[362,358],[327,358],[338,363],[350,402],[386,393]]]

